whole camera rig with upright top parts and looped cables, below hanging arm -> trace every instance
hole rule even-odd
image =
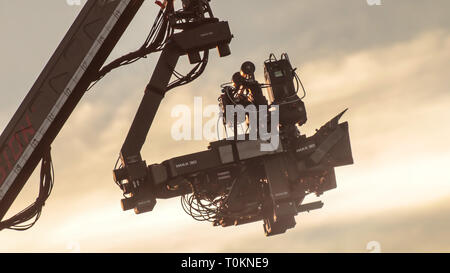
[[[321,208],[322,202],[303,204],[305,197],[336,188],[334,167],[353,163],[348,124],[339,123],[345,111],[313,136],[301,135],[295,124],[303,124],[306,113],[293,83],[298,76],[287,54],[283,56],[281,61],[265,63],[267,84],[259,84],[253,76],[254,65],[245,62],[241,72],[233,75],[233,85],[223,86],[219,98],[223,112],[227,106],[258,106],[254,93],[262,96],[261,89],[270,86],[275,99],[271,105],[267,100],[262,104],[271,107],[280,103],[280,111],[286,108],[290,114],[280,114],[279,131],[270,132],[279,134],[279,145],[264,151],[261,144],[268,141],[250,140],[249,135],[239,140],[235,134],[210,143],[202,152],[161,164],[142,164],[141,177],[145,178],[138,182],[124,181],[124,169],[116,169],[114,179],[126,196],[123,209],[147,212],[153,210],[157,198],[181,196],[184,210],[196,220],[223,227],[263,221],[270,236],[293,228],[298,213]],[[238,122],[242,121],[235,120],[234,127]]]

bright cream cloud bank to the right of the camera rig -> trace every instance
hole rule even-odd
[[[350,109],[343,120],[350,124],[355,164],[337,169],[338,190],[324,197],[333,207],[376,210],[450,193],[442,172],[450,163],[449,38],[432,31],[304,65],[304,133]]]

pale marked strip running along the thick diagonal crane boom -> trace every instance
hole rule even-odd
[[[30,159],[31,154],[36,149],[37,145],[42,140],[42,137],[47,132],[50,125],[53,123],[53,120],[58,115],[61,108],[66,103],[69,96],[72,94],[73,90],[77,86],[78,82],[80,81],[81,77],[84,75],[84,72],[86,72],[87,67],[91,64],[94,57],[97,55],[98,51],[100,50],[100,47],[105,42],[105,39],[108,37],[109,33],[113,29],[113,27],[116,25],[117,21],[119,20],[122,13],[125,11],[128,4],[130,4],[131,0],[121,0],[119,5],[117,6],[116,10],[113,12],[112,17],[109,19],[109,21],[106,23],[103,30],[100,32],[97,39],[94,41],[94,44],[92,45],[91,49],[87,53],[86,57],[84,58],[81,65],[78,67],[77,71],[73,75],[72,79],[67,84],[66,88],[64,88],[64,92],[61,94],[59,99],[56,101],[55,106],[53,106],[52,110],[48,114],[47,118],[42,123],[39,130],[37,130],[36,134],[34,135],[33,139],[28,144],[25,151],[20,156],[19,160],[14,165],[13,169],[9,173],[8,177],[5,179],[3,184],[0,186],[0,200],[5,197],[6,193],[8,192],[11,185],[16,180],[17,176],[19,175],[20,171],[22,170],[23,166],[27,163],[27,161]]]

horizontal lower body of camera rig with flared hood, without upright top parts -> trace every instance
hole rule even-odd
[[[215,226],[263,220],[267,235],[284,233],[296,225],[297,214],[322,208],[322,202],[303,204],[304,197],[336,188],[334,168],[353,163],[348,123],[339,123],[344,112],[292,147],[261,151],[262,140],[225,139],[210,143],[208,150],[149,165],[138,191],[124,184],[125,192],[134,192],[122,199],[122,207],[141,213],[149,211],[156,198],[212,194],[204,196],[218,200],[225,192],[228,197],[209,219]],[[324,154],[318,158],[318,153]],[[247,172],[251,180],[245,178]]]

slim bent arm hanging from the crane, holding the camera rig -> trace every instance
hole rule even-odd
[[[202,61],[198,57],[199,52],[206,52],[214,47],[218,48],[221,57],[225,57],[230,54],[228,44],[232,38],[228,23],[215,19],[200,22],[194,27],[173,34],[164,46],[122,146],[120,152],[122,168],[114,170],[113,173],[114,180],[125,194],[133,197],[134,202],[131,206],[135,208],[136,213],[151,211],[156,204],[156,197],[152,191],[154,185],[148,179],[147,165],[142,160],[140,151],[159,105],[168,91],[169,81],[179,58],[187,54],[191,63],[199,63]],[[130,203],[129,200],[128,202]]]

